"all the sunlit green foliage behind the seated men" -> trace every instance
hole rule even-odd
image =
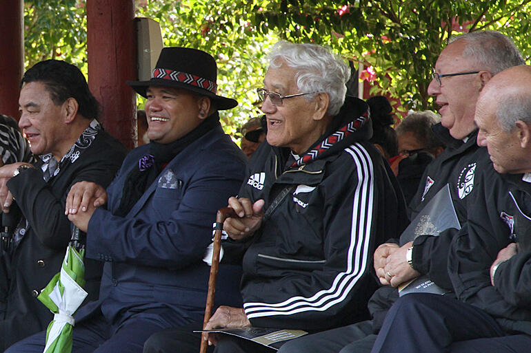
[[[83,0],[26,0],[26,65],[63,58],[86,72]],[[411,109],[428,109],[430,69],[453,34],[499,30],[531,56],[531,0],[136,0],[137,16],[159,21],[165,45],[210,52],[219,94],[236,98],[221,112],[227,131],[257,116],[266,54],[278,39],[332,47],[372,66],[379,90]]]

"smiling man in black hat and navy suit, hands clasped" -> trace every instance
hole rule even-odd
[[[216,94],[216,79],[206,52],[164,48],[150,81],[129,82],[147,98],[150,143],[128,154],[106,191],[72,187],[66,212],[87,231],[86,256],[105,262],[100,299],[75,317],[72,352],[142,352],[152,333],[202,320],[212,223],[246,166],[217,113],[237,102]],[[222,264],[217,304],[241,305],[240,274]],[[43,344],[41,332],[10,352]]]

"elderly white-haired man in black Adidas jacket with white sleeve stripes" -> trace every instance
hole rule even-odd
[[[349,77],[324,47],[274,46],[257,90],[266,142],[239,197],[228,202],[239,217],[223,226],[232,241],[249,243],[243,308],[221,306],[208,329],[319,331],[368,317],[377,288],[372,253],[400,233],[406,217],[397,181],[369,142],[368,106],[345,97]],[[210,339],[215,352],[270,351],[232,336]],[[174,342],[174,351],[182,349]]]

